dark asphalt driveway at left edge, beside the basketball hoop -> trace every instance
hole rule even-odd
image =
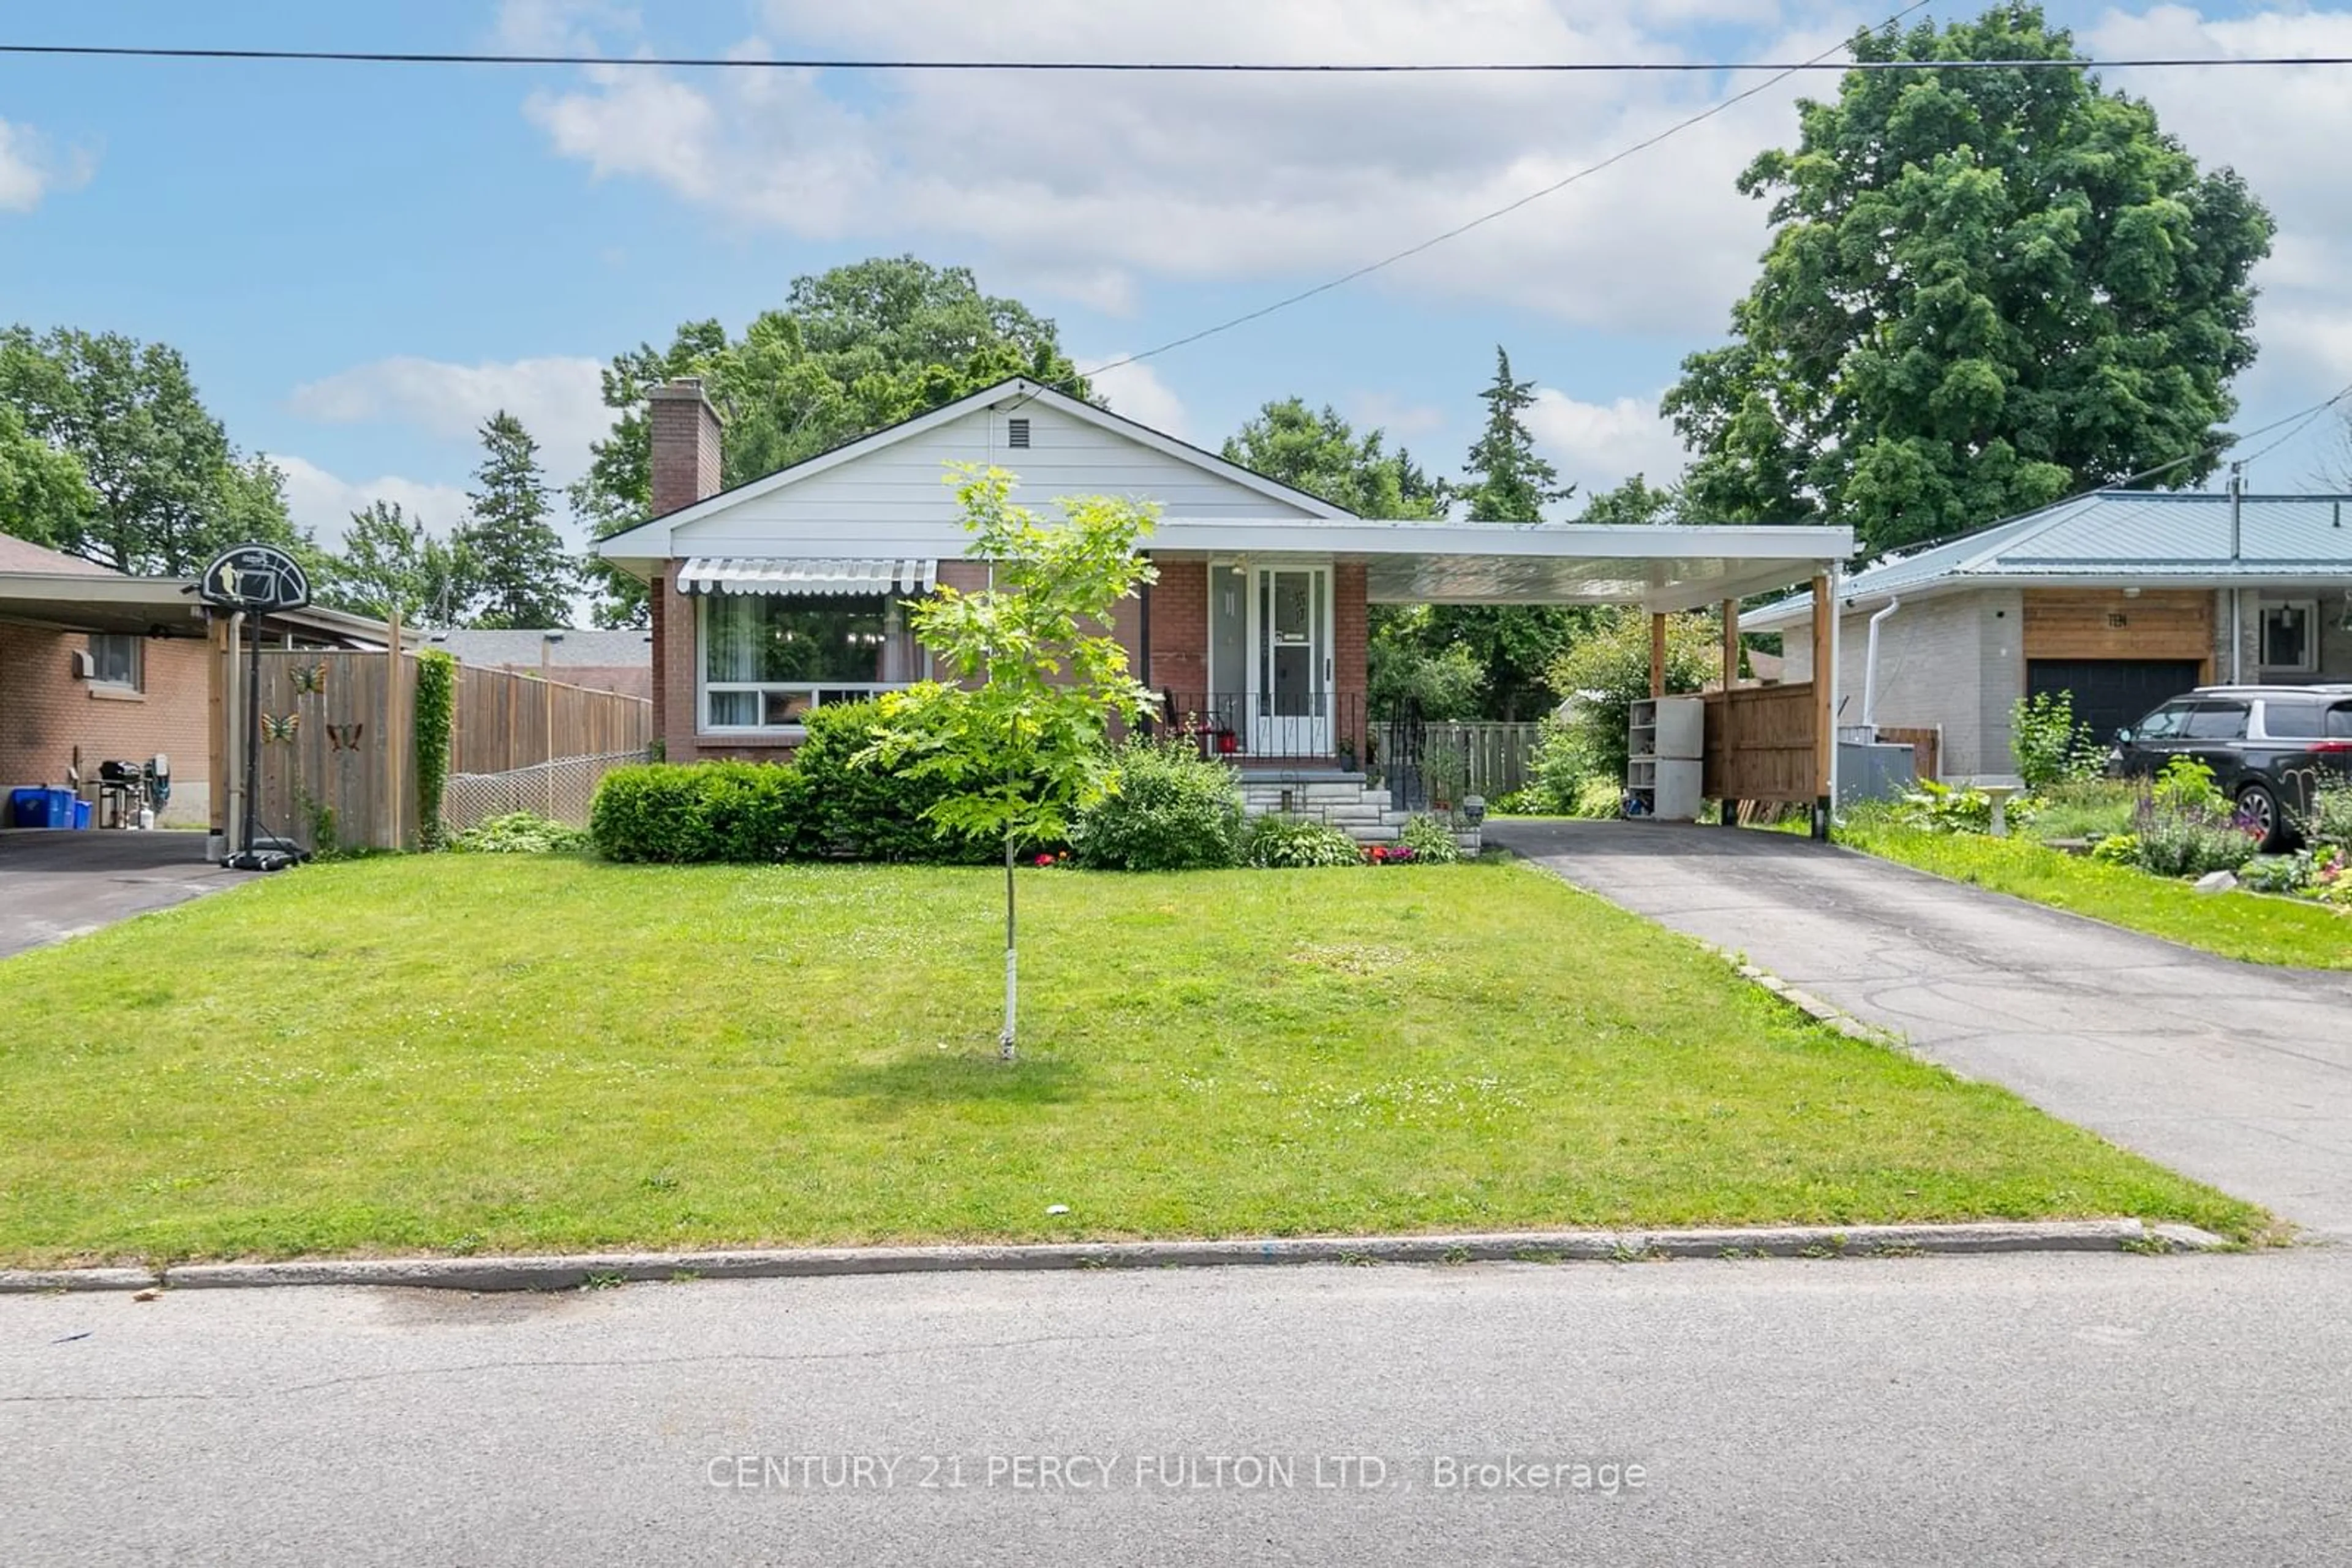
[[[0,832],[0,959],[245,882],[202,832]]]

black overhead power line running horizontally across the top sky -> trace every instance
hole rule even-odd
[[[1839,45],[1842,49],[1844,45]],[[233,49],[153,45],[0,45],[52,59],[266,61],[329,66],[612,66],[630,71],[1028,71],[1063,75],[1719,75],[1769,71],[2213,71],[2352,66],[2352,54],[2145,54],[2122,59],[1872,59],[1872,61],[1129,61],[1129,59],[748,59],[731,54],[468,54],[456,49]]]

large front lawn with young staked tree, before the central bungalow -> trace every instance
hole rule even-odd
[[[2265,1218],[1524,865],[322,865],[0,964],[0,1260]],[[1068,1215],[1049,1215],[1068,1204]]]

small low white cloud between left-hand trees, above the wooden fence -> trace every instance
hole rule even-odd
[[[332,425],[390,421],[445,440],[473,440],[506,409],[539,442],[550,484],[569,484],[588,468],[588,442],[612,430],[602,364],[579,357],[492,360],[452,364],[397,355],[358,364],[294,388],[303,418]]]

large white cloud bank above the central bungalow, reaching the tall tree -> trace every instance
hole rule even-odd
[[[1679,21],[1757,24],[1766,0],[764,0],[795,52],[1160,59],[1672,59]],[[1856,12],[1858,14],[1858,12]],[[1816,52],[1842,33],[1743,28]],[[746,49],[764,47],[757,40]],[[1708,52],[1724,35],[1703,38]],[[1684,78],[1105,78],[590,73],[529,118],[600,176],[649,179],[746,228],[816,240],[978,242],[1000,275],[1098,308],[1138,277],[1348,270],[1653,134],[1719,92]],[[1783,85],[1479,233],[1392,287],[1597,324],[1712,331],[1748,282],[1764,209],[1733,190],[1792,134]]]

